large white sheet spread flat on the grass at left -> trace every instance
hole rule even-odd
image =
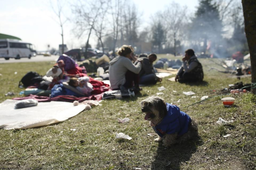
[[[14,109],[18,100],[7,99],[0,103],[0,128],[28,129],[62,122],[77,115],[85,105],[73,106],[62,101],[39,102],[37,106]]]

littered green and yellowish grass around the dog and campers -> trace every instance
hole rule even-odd
[[[205,73],[203,84],[179,84],[164,78],[161,83],[143,87],[141,95],[104,100],[102,106],[58,124],[26,130],[0,129],[0,169],[254,169],[256,96],[251,93],[227,95],[236,99],[231,108],[225,108],[221,97],[215,97],[181,109],[198,123],[201,139],[164,148],[153,141],[154,136],[147,135],[154,135],[154,131],[143,119],[139,101],[159,92],[157,87],[166,88],[161,95],[165,101],[182,108],[204,95],[221,94],[228,84],[239,82],[229,74],[208,71],[207,65],[215,66],[208,59],[200,61]],[[43,75],[51,65],[51,62],[0,64],[0,101],[19,96],[22,89],[18,88],[18,82],[28,71]],[[250,77],[242,77],[240,81],[249,83]],[[5,96],[8,91],[15,95]],[[185,96],[183,91],[193,91],[196,93],[193,96],[198,97]],[[117,118],[125,117],[131,121],[119,124]],[[216,124],[219,117],[234,122],[219,126]],[[133,139],[115,139],[115,133],[119,132]],[[231,136],[224,138],[226,134]]]

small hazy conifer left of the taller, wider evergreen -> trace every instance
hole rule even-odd
[[[160,20],[158,20],[158,22],[152,26],[152,43],[158,47],[158,53],[161,53],[162,45],[165,43],[165,40],[165,30]]]

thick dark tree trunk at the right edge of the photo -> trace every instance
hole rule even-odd
[[[251,59],[251,82],[256,83],[256,1],[242,0],[245,33]],[[256,89],[251,90],[256,95]]]

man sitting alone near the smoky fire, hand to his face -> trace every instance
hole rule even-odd
[[[203,67],[197,60],[195,52],[192,49],[185,51],[185,57],[182,58],[183,65],[179,68],[175,77],[175,81],[180,83],[185,82],[200,82],[203,80]]]

